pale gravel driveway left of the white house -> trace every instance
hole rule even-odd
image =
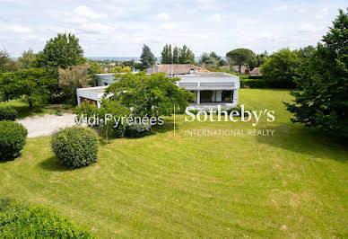
[[[74,114],[64,113],[61,116],[46,114],[45,116],[30,116],[16,120],[28,129],[28,137],[49,136],[57,128],[74,125]]]

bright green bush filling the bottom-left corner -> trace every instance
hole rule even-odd
[[[0,208],[2,238],[92,238],[89,231],[76,226],[56,211],[10,202]]]

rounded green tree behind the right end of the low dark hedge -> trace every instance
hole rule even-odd
[[[300,58],[296,50],[280,49],[269,58],[265,58],[265,63],[261,66],[261,73],[268,81],[288,81],[292,82],[298,76]]]

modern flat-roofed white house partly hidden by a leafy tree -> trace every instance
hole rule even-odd
[[[222,109],[231,109],[238,105],[239,77],[224,72],[201,72],[187,75],[175,75],[180,78],[176,84],[195,93],[196,101],[190,102],[189,109],[210,110],[218,105]],[[88,101],[100,107],[105,88],[117,81],[113,74],[97,74],[97,87],[76,90],[77,102]]]

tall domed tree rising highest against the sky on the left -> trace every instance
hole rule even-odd
[[[45,48],[40,51],[35,60],[38,67],[60,67],[77,66],[85,61],[83,48],[79,39],[74,34],[59,33],[56,38],[46,42]]]

